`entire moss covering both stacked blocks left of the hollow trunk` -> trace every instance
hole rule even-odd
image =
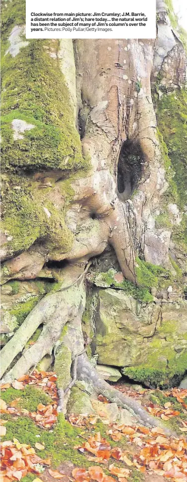
[[[2,230],[13,239],[13,251],[27,250],[43,238],[49,251],[71,249],[73,235],[64,222],[64,209],[49,202],[49,189],[38,189],[33,172],[62,169],[66,175],[88,170],[75,128],[69,91],[58,57],[59,40],[28,40],[19,53],[7,53],[8,36],[25,23],[25,4],[7,0],[2,6]],[[24,40],[24,38],[23,38]],[[50,72],[50,75],[49,75]],[[12,121],[32,124],[23,139],[13,138]],[[81,174],[80,174],[81,175]],[[64,206],[73,196],[70,180],[60,182]],[[45,193],[44,193],[45,191]],[[46,207],[51,216],[44,211]]]

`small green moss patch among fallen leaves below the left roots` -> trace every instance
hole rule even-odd
[[[25,408],[30,412],[36,411],[39,403],[42,403],[43,405],[49,405],[52,403],[52,399],[49,395],[43,390],[31,385],[26,385],[24,390],[16,390],[13,387],[7,388],[4,392],[1,391],[1,398],[7,404],[15,400],[15,398],[20,398],[20,400],[17,401],[17,407]]]

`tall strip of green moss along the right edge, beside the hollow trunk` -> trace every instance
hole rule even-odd
[[[159,81],[158,81],[159,83]],[[157,227],[172,228],[172,239],[184,253],[187,252],[187,216],[183,214],[180,225],[169,226],[169,203],[176,203],[184,212],[187,204],[187,90],[165,92],[156,99],[158,138],[166,169],[169,187],[162,196],[161,214]]]

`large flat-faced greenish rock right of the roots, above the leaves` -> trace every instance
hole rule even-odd
[[[98,366],[123,367],[147,386],[179,383],[187,367],[187,301],[145,304],[110,288],[98,296]]]

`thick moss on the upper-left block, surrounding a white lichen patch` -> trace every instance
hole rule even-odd
[[[7,1],[2,9],[2,164],[13,170],[85,167],[58,59],[59,40],[29,40],[15,57],[3,55],[13,26],[24,23],[24,2]],[[35,127],[14,141],[13,119]]]

